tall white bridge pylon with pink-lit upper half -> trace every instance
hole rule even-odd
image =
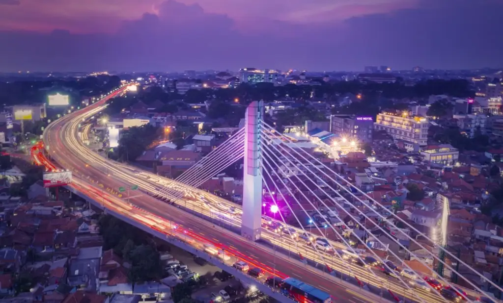
[[[244,115],[244,176],[243,214],[241,235],[247,239],[260,239],[262,228],[262,167],[260,165],[260,125],[263,102],[254,101]]]

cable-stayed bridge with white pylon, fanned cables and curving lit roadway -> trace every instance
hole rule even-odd
[[[96,182],[98,189],[100,186],[102,189],[105,186],[118,188],[124,184],[139,186],[142,192],[148,193],[151,197],[139,195],[141,197],[128,199],[128,203],[134,209],[139,208],[163,218],[171,216],[174,222],[179,220],[180,224],[187,227],[192,226],[194,229],[198,227],[201,230],[198,241],[203,241],[201,237],[207,238],[210,234],[214,235],[213,239],[218,240],[219,244],[225,243],[226,251],[229,254],[231,252],[235,255],[246,254],[246,261],[257,266],[259,263],[254,262],[261,261],[260,263],[264,265],[267,272],[293,276],[329,292],[332,290],[331,287],[335,287],[335,284],[327,284],[324,280],[320,280],[325,274],[339,278],[343,285],[353,283],[357,287],[359,286],[357,293],[363,295],[364,298],[370,298],[377,294],[379,297],[402,301],[449,301],[439,294],[436,285],[427,282],[421,283],[425,273],[415,272],[408,267],[406,262],[401,262],[396,265],[410,271],[410,274],[415,275],[415,278],[409,279],[401,276],[396,273],[394,265],[387,263],[387,259],[379,251],[369,248],[356,249],[355,245],[350,243],[356,240],[357,244],[361,243],[366,246],[366,239],[369,236],[377,232],[389,235],[389,229],[392,229],[400,233],[401,238],[423,247],[432,259],[444,264],[446,269],[457,274],[458,280],[464,279],[467,284],[482,293],[482,289],[448,264],[445,258],[428,251],[421,242],[410,237],[403,229],[398,228],[397,225],[400,223],[399,225],[414,230],[427,241],[431,241],[431,245],[443,251],[442,254],[451,262],[459,262],[465,273],[472,271],[470,273],[487,281],[492,287],[499,288],[498,285],[459,260],[442,245],[438,245],[429,235],[415,230],[392,211],[355,188],[343,176],[327,168],[317,158],[300,148],[292,139],[278,133],[264,121],[261,102],[253,102],[248,107],[244,128],[238,130],[177,180],[161,178],[127,165],[103,159],[84,146],[76,135],[79,129],[78,124],[102,109],[103,104],[98,103],[96,106],[67,115],[49,125],[44,132],[44,143],[46,147],[50,146],[48,148],[49,155],[61,167],[72,169],[75,176],[81,176],[83,182],[89,183],[89,180],[93,184]],[[208,179],[243,157],[242,207],[197,189]],[[274,210],[273,218],[262,216],[264,196],[271,200]],[[347,197],[351,197],[351,201],[348,201]],[[116,198],[110,199],[115,204],[119,204]],[[222,226],[229,229],[239,228],[242,237],[222,230],[215,234],[213,230],[209,230],[212,229],[211,225],[208,229],[208,224],[203,221],[192,219],[186,212],[184,215],[184,212],[181,213],[179,209],[166,203],[162,204],[157,199],[175,204],[185,211],[207,219],[205,221],[221,222]],[[344,207],[342,207],[341,201],[344,201]],[[364,219],[370,224],[361,226],[364,236],[345,223],[343,223],[343,232],[341,228],[330,223],[326,213],[319,210],[319,206],[326,210],[334,209],[330,215],[336,217],[340,222],[344,222],[344,218],[349,217],[354,222],[361,222]],[[365,209],[365,212],[362,211],[362,208]],[[282,210],[288,210],[293,216],[294,222],[297,223],[296,226],[287,224],[289,221],[284,217]],[[300,210],[302,217],[295,210]],[[132,211],[130,210],[130,212]],[[173,217],[174,214],[176,214],[175,217]],[[309,230],[306,230],[304,227],[306,218],[311,223],[317,221],[322,224],[311,224]],[[374,218],[379,218],[379,220],[376,221]],[[143,220],[145,219],[143,218]],[[158,227],[154,225],[152,224],[151,227]],[[327,234],[327,231],[333,233],[336,241],[327,240],[321,236]],[[191,232],[190,229],[188,232]],[[223,239],[222,235],[224,235]],[[348,235],[351,235],[352,240],[348,239]],[[374,238],[382,247],[387,247],[379,240],[378,236]],[[397,238],[389,236],[389,239],[399,245],[401,250],[414,256]],[[272,253],[266,254],[267,245],[272,248]],[[250,252],[252,249],[253,253]],[[387,250],[387,254],[393,256],[395,260],[401,260],[390,249]],[[287,256],[286,259],[285,256]],[[271,258],[274,259],[271,261]],[[417,260],[428,266],[421,259]],[[310,269],[311,265],[317,266],[318,271]],[[304,270],[292,271],[292,268],[298,266],[301,266],[300,268],[304,266]],[[318,273],[316,274],[316,272]],[[438,276],[437,280],[443,286],[451,286],[453,289],[457,287],[442,276]],[[347,301],[344,295],[338,294],[334,295],[335,300]],[[351,296],[349,292],[346,294]],[[474,301],[477,296],[473,292],[465,293],[461,290],[456,294],[458,300],[467,301]]]

